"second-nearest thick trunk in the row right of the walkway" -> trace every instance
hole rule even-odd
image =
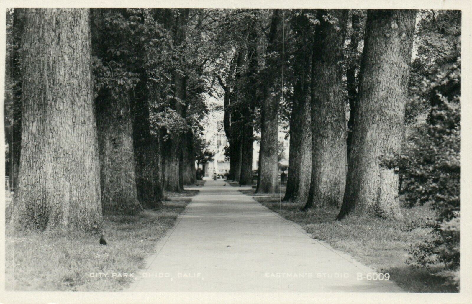
[[[318,10],[312,56],[312,176],[304,209],[339,207],[346,186],[346,115],[343,101],[344,34],[347,9],[332,9],[335,25]]]

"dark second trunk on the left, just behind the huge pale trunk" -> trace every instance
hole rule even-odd
[[[107,52],[107,33],[103,31],[103,14],[118,10],[92,9],[93,51],[102,60],[113,60]],[[122,9],[120,12],[125,14]],[[137,198],[133,122],[129,92],[111,93],[105,87],[95,99],[101,172],[103,213],[135,214],[142,210]]]

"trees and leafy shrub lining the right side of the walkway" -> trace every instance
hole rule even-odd
[[[398,220],[400,199],[429,204],[436,217],[410,228],[430,235],[408,262],[446,266],[438,275],[457,285],[461,12],[234,10],[223,20],[239,33],[226,83],[216,75],[232,178],[250,184],[244,149],[260,131],[256,191],[275,192],[277,133],[288,128],[284,201],[338,209],[339,220]]]

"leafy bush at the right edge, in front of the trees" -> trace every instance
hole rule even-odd
[[[383,164],[396,168],[408,206],[429,203],[436,218],[427,223],[428,240],[412,245],[408,263],[428,267],[444,265],[437,275],[458,286],[460,269],[460,75],[455,66],[424,81],[430,90],[429,117],[413,126],[402,154]]]

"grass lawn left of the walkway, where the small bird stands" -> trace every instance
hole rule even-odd
[[[166,193],[169,201],[160,210],[136,216],[105,216],[109,244],[100,236],[70,238],[22,231],[6,236],[6,286],[8,291],[118,291],[132,280],[113,273],[136,272],[156,242],[174,226],[190,198],[198,193]],[[107,273],[93,277],[91,273]]]

